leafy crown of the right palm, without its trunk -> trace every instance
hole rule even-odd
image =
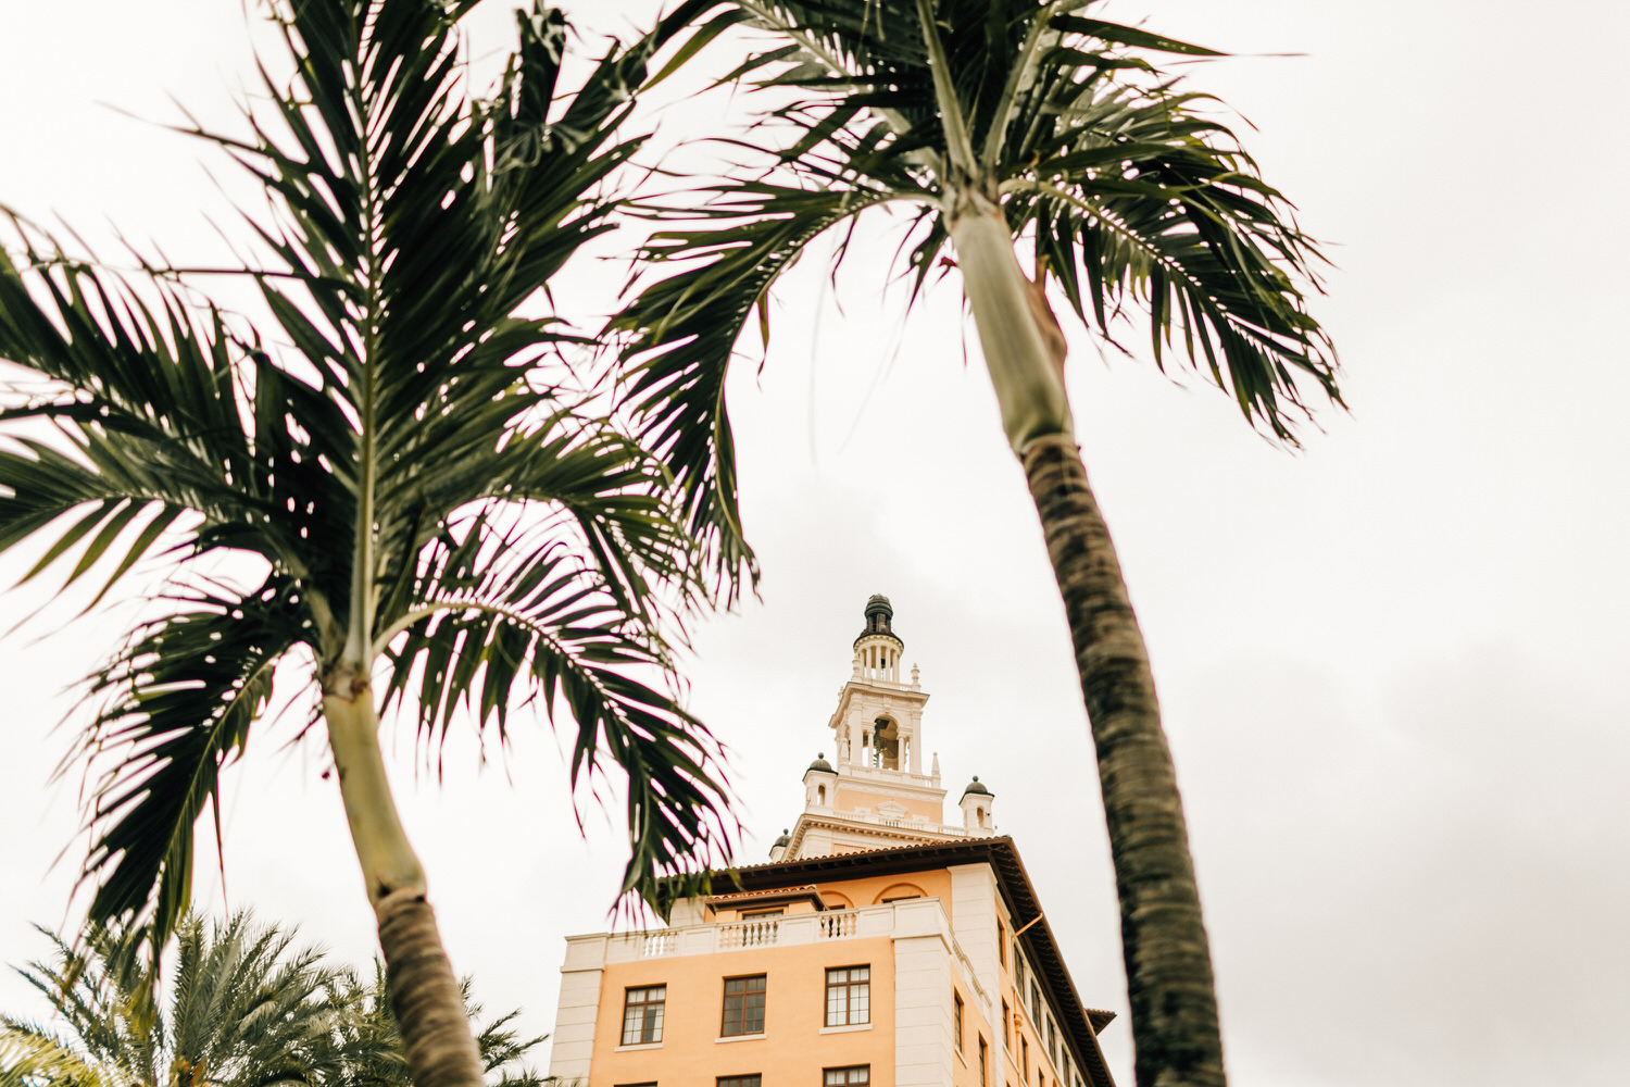
[[[950,262],[939,257],[958,220],[996,210],[1032,251],[1038,298],[1056,285],[1112,342],[1128,306],[1148,308],[1156,360],[1180,339],[1180,359],[1268,432],[1291,437],[1304,380],[1338,396],[1333,349],[1294,279],[1311,277],[1314,244],[1232,132],[1195,111],[1206,96],[1138,55],[1221,54],[1081,15],[1092,2],[740,0],[711,15],[716,31],[774,36],[732,78],[792,101],[753,130],[771,169],[649,205],[685,225],[655,233],[645,256],[685,271],[642,272],[615,328],[637,362],[647,437],[727,566],[750,556],[727,360],[781,272],[870,209],[916,217],[901,249],[913,298]],[[970,271],[968,254],[957,262]],[[1022,420],[1009,438],[1024,442]]]

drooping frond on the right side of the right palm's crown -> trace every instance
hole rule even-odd
[[[1138,303],[1157,363],[1180,341],[1182,360],[1289,440],[1304,380],[1340,403],[1335,349],[1297,285],[1317,282],[1319,251],[1232,132],[1192,112],[1196,99],[1105,72],[1055,77],[1030,109],[1056,127],[1015,140],[1033,158],[1004,178],[1004,210],[1082,321],[1090,311],[1113,337],[1115,311]]]

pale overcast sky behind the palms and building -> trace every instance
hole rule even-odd
[[[509,46],[505,7],[482,10],[478,54]],[[650,10],[575,5],[598,29],[626,26],[618,7]],[[1306,54],[1190,78],[1255,125],[1240,127],[1265,176],[1337,264],[1315,313],[1351,414],[1320,414],[1297,453],[1203,381],[1105,362],[1071,329],[1077,430],[1188,803],[1232,1080],[1620,1084],[1630,16],[1443,0],[1108,11]],[[217,227],[243,227],[205,165],[243,199],[231,166],[117,109],[174,121],[174,98],[231,124],[249,41],[223,0],[0,0],[0,202],[60,213],[109,253],[117,227],[178,261],[225,259]],[[880,290],[893,236],[879,227],[836,292],[818,261],[782,282],[768,365],[735,375],[763,598],[699,627],[693,706],[732,748],[743,859],[761,859],[828,746],[866,596],[888,593],[947,787],[989,784],[1082,996],[1123,1010],[1090,743],[1033,510],[965,362],[954,280],[903,319]],[[619,275],[585,267],[569,306],[603,311]],[[0,580],[21,569],[0,562]],[[0,626],[49,598],[0,598]],[[72,782],[46,781],[67,745],[52,727],[121,618],[41,637],[47,618],[0,642],[0,962],[42,952],[31,921],[64,919],[72,854],[52,860],[75,810]],[[199,900],[362,962],[372,914],[321,751],[285,746],[298,724],[272,722],[228,779],[227,890],[204,872]],[[624,857],[592,800],[577,834],[548,730],[517,733],[486,766],[455,742],[437,782],[404,730],[396,771],[455,966],[541,1032],[562,937],[603,927]],[[39,1014],[11,976],[0,1007]],[[1125,1019],[1104,1043],[1130,1087]]]

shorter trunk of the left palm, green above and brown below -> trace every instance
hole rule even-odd
[[[323,717],[350,841],[380,926],[386,989],[409,1077],[414,1087],[482,1087],[465,997],[385,776],[373,688],[355,670],[336,671],[323,684]]]

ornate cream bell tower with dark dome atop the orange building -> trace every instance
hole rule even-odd
[[[986,803],[980,820],[945,823],[939,756],[923,769],[923,691],[916,665],[905,673],[905,640],[893,629],[888,596],[866,601],[866,624],[854,639],[849,680],[838,691],[831,761],[825,751],[804,774],[804,813],[776,843],[776,859],[914,846],[957,838],[988,838],[994,821]]]

